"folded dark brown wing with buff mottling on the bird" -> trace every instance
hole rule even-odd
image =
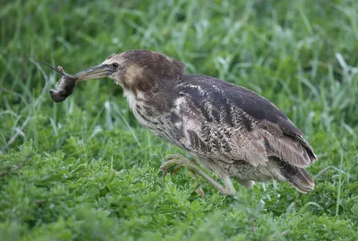
[[[251,163],[254,166],[263,164],[264,160],[260,161],[260,156],[264,156],[263,159],[266,157],[266,160],[270,155],[277,156],[300,168],[317,159],[309,143],[303,139],[303,133],[287,116],[268,99],[251,90],[209,76],[185,75],[177,87],[177,93],[188,100],[187,116],[197,118],[192,125],[200,125],[192,128],[192,132],[201,130],[202,134],[207,128],[211,134],[220,135],[212,139],[219,140],[217,145],[221,146],[228,136],[231,140],[227,142],[234,140],[233,133],[246,134],[248,142],[252,143],[247,148],[253,148],[249,152],[258,156],[253,159],[259,159],[257,163]],[[226,135],[225,132],[230,133]],[[210,133],[208,134],[210,136]],[[200,145],[206,144],[202,136],[195,137],[199,135],[198,132],[192,135],[193,141],[196,140]],[[237,142],[236,145],[245,148],[242,143]],[[232,147],[227,148],[229,149],[232,150]],[[227,154],[228,159],[233,159],[233,156],[226,152],[221,150],[221,154]],[[263,152],[262,155],[260,152]],[[246,160],[250,162],[249,159]]]

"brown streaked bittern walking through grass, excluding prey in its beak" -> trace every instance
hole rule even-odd
[[[259,94],[215,77],[188,74],[182,62],[141,49],[113,54],[74,75],[78,82],[104,77],[123,88],[144,128],[192,157],[170,154],[162,170],[187,167],[229,196],[236,194],[233,180],[244,187],[278,180],[303,194],[314,188],[305,169],[317,159],[311,145]]]

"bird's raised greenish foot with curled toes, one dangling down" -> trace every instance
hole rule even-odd
[[[189,171],[189,175],[192,177],[192,179],[195,180],[195,186],[198,186],[198,185],[200,185],[199,180],[198,180],[198,177],[195,174],[195,171],[191,168],[192,164],[193,164],[192,160],[185,158],[182,154],[170,154],[170,155],[167,155],[164,158],[164,163],[162,164],[160,169],[165,174],[167,174],[168,173],[168,171],[167,171],[168,168],[171,168],[171,167],[175,166],[175,168],[171,171],[171,174],[174,174],[180,168],[187,167],[188,171]],[[195,163],[195,165],[197,165],[197,164]],[[201,189],[200,186],[198,187],[198,189],[195,190],[195,192],[197,194],[200,194],[201,198],[204,198],[205,193]]]

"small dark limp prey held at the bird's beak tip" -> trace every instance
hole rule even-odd
[[[44,65],[47,64],[44,63]],[[62,102],[64,101],[64,99],[66,99],[72,94],[78,78],[74,77],[71,74],[65,73],[62,66],[58,66],[58,70],[51,65],[47,66],[62,75],[61,79],[57,82],[56,90],[49,90],[52,100],[54,100],[55,102]]]

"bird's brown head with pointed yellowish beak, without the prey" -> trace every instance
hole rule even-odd
[[[149,50],[131,50],[108,56],[100,65],[77,73],[78,81],[109,77],[124,90],[147,91],[159,82],[170,82],[185,74],[183,63]]]

